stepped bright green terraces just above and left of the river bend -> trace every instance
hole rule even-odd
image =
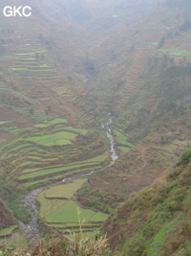
[[[10,178],[15,175],[26,186],[89,173],[107,163],[107,151],[80,159],[82,146],[77,144],[78,136],[85,136],[87,130],[69,127],[66,119],[55,118],[35,124],[31,129],[16,129],[24,135],[0,147],[0,160],[9,159]]]

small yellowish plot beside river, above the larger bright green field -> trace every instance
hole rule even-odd
[[[68,184],[53,186],[46,191],[46,198],[72,198],[74,193],[87,181],[87,178],[75,179]]]

